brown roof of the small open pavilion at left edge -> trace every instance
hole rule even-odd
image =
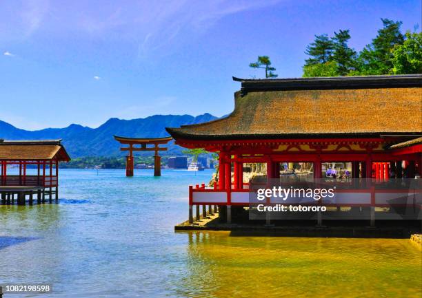
[[[61,140],[2,140],[0,160],[69,161]]]

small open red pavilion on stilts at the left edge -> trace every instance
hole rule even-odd
[[[70,157],[61,140],[1,140],[0,195],[2,204],[10,204],[17,196],[18,204],[32,204],[34,195],[45,202],[46,195],[59,199],[59,162]]]

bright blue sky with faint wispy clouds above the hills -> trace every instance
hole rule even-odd
[[[111,117],[230,113],[248,63],[301,76],[314,34],[380,18],[421,23],[420,0],[0,1],[0,120],[24,129],[97,127]]]

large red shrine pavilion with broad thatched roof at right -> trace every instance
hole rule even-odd
[[[297,177],[304,164],[306,178],[332,184],[421,177],[422,74],[234,81],[229,116],[167,128],[177,145],[219,153],[215,187],[190,187],[190,222],[192,206],[217,204],[231,222],[232,209],[250,204],[245,164],[263,164],[267,180]],[[390,206],[382,193],[352,189],[332,206]]]

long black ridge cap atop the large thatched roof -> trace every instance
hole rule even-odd
[[[318,78],[236,78],[241,82],[241,93],[282,90],[323,90],[323,89],[369,89],[422,87],[422,74],[399,76],[339,76]]]

